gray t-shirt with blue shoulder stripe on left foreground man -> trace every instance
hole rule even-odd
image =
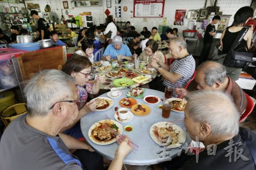
[[[16,118],[0,141],[0,170],[81,170],[59,136],[50,136]]]

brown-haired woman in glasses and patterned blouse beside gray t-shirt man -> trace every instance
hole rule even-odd
[[[94,83],[88,83],[91,74],[91,62],[88,58],[78,54],[73,54],[68,59],[62,71],[75,78],[76,93],[81,101],[77,103],[79,114],[74,123],[62,130],[65,130],[65,134],[80,139],[83,138],[79,123],[80,118],[96,109],[96,102],[94,100],[86,103],[88,93],[97,94],[100,90],[100,83],[105,82],[106,77],[105,75],[99,75],[95,78]],[[84,86],[86,87],[84,88]]]

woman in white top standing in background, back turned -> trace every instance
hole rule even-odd
[[[117,26],[114,23],[112,15],[107,16],[107,28],[103,34],[107,36],[108,44],[112,44],[113,37],[117,35]]]

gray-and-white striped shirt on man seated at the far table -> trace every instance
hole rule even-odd
[[[195,59],[192,57],[192,54],[189,54],[186,57],[183,57],[181,59],[176,59],[170,67],[171,73],[179,73],[181,74],[182,78],[179,79],[175,83],[171,83],[168,80],[164,79],[163,85],[165,87],[171,87],[171,88],[184,88],[187,85],[187,82],[191,79],[196,67]],[[175,93],[175,90],[172,92],[173,97],[177,97],[177,94]]]

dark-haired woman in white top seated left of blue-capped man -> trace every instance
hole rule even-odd
[[[93,40],[87,38],[84,41],[82,41],[81,50],[76,51],[75,54],[85,56],[90,60],[91,63],[93,63],[94,62],[93,51],[94,51]]]

